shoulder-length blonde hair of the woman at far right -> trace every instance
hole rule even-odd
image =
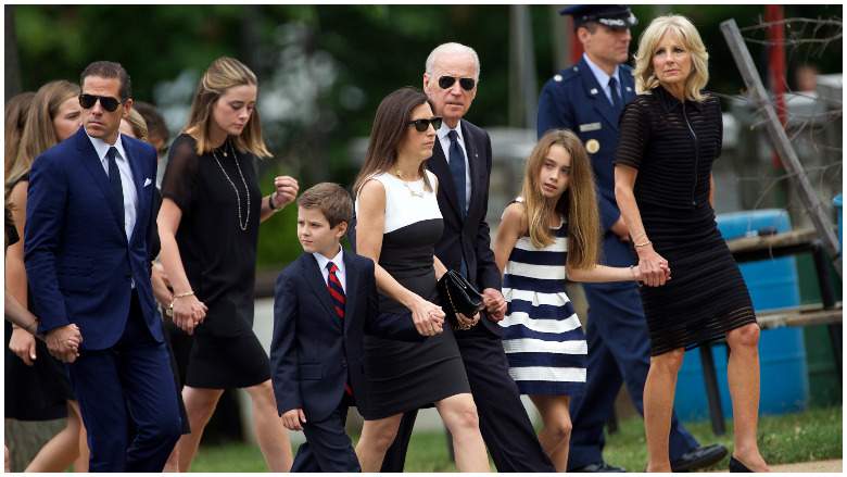
[[[656,73],[653,71],[653,53],[656,52],[661,37],[673,33],[680,38],[683,47],[691,53],[692,72],[685,80],[685,98],[693,101],[704,101],[700,92],[709,83],[709,53],[703,45],[699,32],[691,21],[682,15],[666,15],[653,20],[639,39],[639,52],[635,53],[635,91],[647,92],[659,86]]]

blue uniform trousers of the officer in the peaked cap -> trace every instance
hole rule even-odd
[[[568,470],[603,461],[603,427],[615,407],[621,384],[639,413],[644,415],[644,382],[649,369],[649,334],[634,284],[584,285],[589,301],[589,378],[585,392],[570,402],[573,430]],[[698,447],[677,419],[670,429],[670,459]]]

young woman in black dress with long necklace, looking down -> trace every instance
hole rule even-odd
[[[227,388],[250,394],[268,468],[291,468],[270,364],[253,334],[253,292],[258,224],[294,200],[298,183],[276,177],[274,193],[260,192],[255,159],[270,153],[256,97],[250,68],[231,58],[215,60],[200,80],[188,126],[170,146],[162,183],[157,224],[161,261],[174,289],[172,314],[194,335],[182,389],[192,432],[177,444],[180,472],[188,470]]]

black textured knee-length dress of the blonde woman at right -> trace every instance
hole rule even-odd
[[[723,123],[720,101],[706,97],[681,102],[659,86],[637,96],[621,116],[615,164],[639,170],[634,192],[644,230],[671,268],[665,286],[641,288],[654,356],[756,323],[709,204]]]

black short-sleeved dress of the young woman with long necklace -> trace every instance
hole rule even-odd
[[[199,156],[195,145],[186,134],[174,140],[162,181],[162,197],[182,212],[176,234],[182,266],[197,298],[208,306],[194,329],[186,385],[255,386],[270,379],[267,353],[253,334],[262,208],[255,158],[229,142],[216,156]]]

